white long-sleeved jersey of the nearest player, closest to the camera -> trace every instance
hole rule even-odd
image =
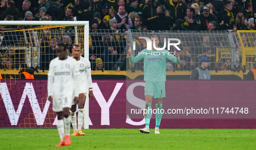
[[[53,77],[53,83],[49,81],[49,76]],[[76,90],[79,89],[75,86],[77,76],[78,67],[72,57],[68,56],[65,60],[59,60],[56,57],[50,62],[49,66],[48,94],[52,95],[53,88],[54,98],[72,97],[73,93],[75,93],[75,96],[78,96],[79,93],[76,93]]]

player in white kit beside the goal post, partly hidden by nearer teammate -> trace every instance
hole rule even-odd
[[[72,54],[74,60],[76,60],[76,65],[79,70],[79,97],[78,97],[78,127],[77,127],[77,116],[76,116],[76,103],[71,107],[71,123],[74,129],[72,136],[85,135],[83,133],[82,126],[84,122],[84,103],[89,88],[89,98],[93,99],[92,92],[92,80],[91,80],[91,63],[84,57],[81,57],[81,47],[80,45],[74,45],[72,48]]]

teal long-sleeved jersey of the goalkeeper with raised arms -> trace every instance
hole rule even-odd
[[[144,49],[136,57],[131,56],[131,62],[134,64],[144,60],[144,81],[164,82],[166,81],[166,59],[180,63],[180,57],[175,57],[167,50],[152,51]]]

